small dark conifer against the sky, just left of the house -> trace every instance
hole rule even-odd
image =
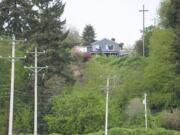
[[[89,45],[95,41],[95,30],[92,25],[86,25],[83,31],[83,45]]]

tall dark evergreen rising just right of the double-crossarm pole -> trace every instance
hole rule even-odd
[[[39,80],[39,129],[40,133],[47,130],[43,120],[48,113],[49,99],[59,93],[63,86],[72,83],[70,50],[72,45],[64,40],[68,31],[64,30],[66,20],[62,20],[65,4],[61,0],[37,0],[34,3],[38,8],[38,24],[33,41],[39,50],[46,50],[45,56],[39,56],[39,66],[48,65],[46,77]],[[59,89],[57,89],[59,87]]]

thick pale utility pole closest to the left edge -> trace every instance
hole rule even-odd
[[[15,62],[17,59],[25,59],[25,57],[16,57],[16,38],[12,36],[12,56],[0,57],[11,59],[11,90],[10,90],[10,105],[9,105],[9,128],[8,135],[13,135],[13,111],[14,111],[14,80],[15,80]]]

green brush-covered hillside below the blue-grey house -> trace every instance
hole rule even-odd
[[[49,133],[85,134],[103,130],[105,117],[104,90],[106,78],[111,75],[114,79],[110,81],[109,128],[130,128],[124,129],[125,131],[119,129],[120,131],[117,131],[117,134],[121,132],[124,132],[125,135],[128,132],[129,134],[136,134],[136,132],[143,134],[145,131],[142,130],[141,133],[141,130],[138,129],[144,127],[142,101],[145,91],[142,88],[143,72],[147,66],[145,61],[147,59],[142,57],[107,58],[96,56],[84,63],[83,83],[77,81],[73,87],[66,87],[63,92],[53,98],[51,111],[45,116],[49,125]],[[154,99],[153,95],[148,93],[148,128],[152,130],[149,131],[149,134],[166,133],[165,130],[157,130],[156,132],[156,129],[170,128],[168,126],[178,124],[173,120],[177,113],[172,113],[170,116],[171,113],[168,113],[166,108],[154,112],[151,106],[158,99]],[[169,123],[170,121],[171,123]],[[166,134],[169,133],[170,131],[167,131]],[[116,132],[112,131],[112,135],[115,134]]]

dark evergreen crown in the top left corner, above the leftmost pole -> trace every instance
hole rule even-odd
[[[31,0],[0,1],[0,34],[28,38],[27,33],[36,22],[36,12],[32,8]]]

